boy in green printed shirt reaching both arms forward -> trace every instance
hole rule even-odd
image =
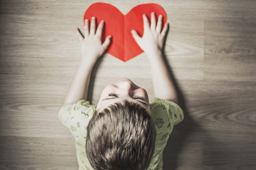
[[[111,42],[101,42],[104,22],[97,30],[95,18],[85,20],[81,42],[82,59],[59,111],[59,119],[75,138],[79,169],[163,169],[163,150],[173,126],[183,120],[178,97],[162,50],[168,29],[162,29],[163,16],[151,23],[143,15],[144,34],[132,35],[145,51],[152,68],[155,98],[149,103],[145,89],[123,79],[102,91],[97,105],[87,98],[91,70]]]

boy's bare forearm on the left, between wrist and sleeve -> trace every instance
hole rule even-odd
[[[87,100],[91,71],[94,63],[81,61],[64,99],[64,104]]]

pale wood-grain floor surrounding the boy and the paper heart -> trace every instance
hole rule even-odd
[[[78,169],[58,110],[81,52],[74,29],[97,1],[0,1],[0,169]],[[150,1],[101,1],[126,14]],[[185,119],[164,168],[256,169],[256,1],[159,0],[170,29],[165,55]],[[140,74],[138,74],[140,73]],[[109,54],[95,65],[89,99],[130,78],[153,99],[149,62]]]

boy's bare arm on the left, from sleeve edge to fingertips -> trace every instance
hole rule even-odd
[[[76,33],[81,43],[82,58],[64,99],[64,104],[87,99],[92,68],[111,42],[111,36],[108,36],[103,43],[101,42],[104,21],[100,22],[97,30],[95,25],[95,17],[91,19],[90,29],[89,20],[86,19],[84,36],[80,33],[79,29],[76,28]]]

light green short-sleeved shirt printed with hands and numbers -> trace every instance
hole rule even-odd
[[[86,155],[87,129],[84,125],[90,121],[97,105],[80,100],[76,103],[65,104],[59,111],[59,119],[75,138],[79,170],[93,170]],[[173,126],[184,118],[182,109],[172,101],[154,98],[150,103],[150,111],[156,128],[156,145],[153,158],[148,170],[163,169],[163,151]]]

